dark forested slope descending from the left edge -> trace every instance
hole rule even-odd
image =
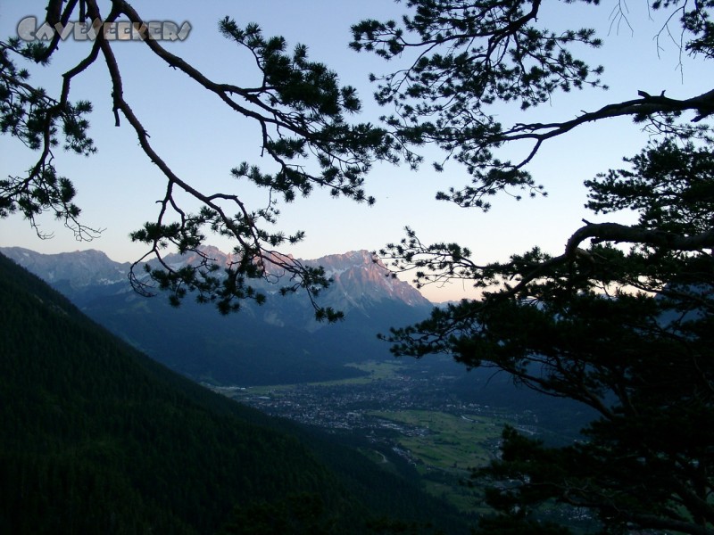
[[[170,373],[2,256],[0,325],[0,532],[361,533],[388,512],[442,521],[403,481],[347,450],[316,453],[288,424]]]

